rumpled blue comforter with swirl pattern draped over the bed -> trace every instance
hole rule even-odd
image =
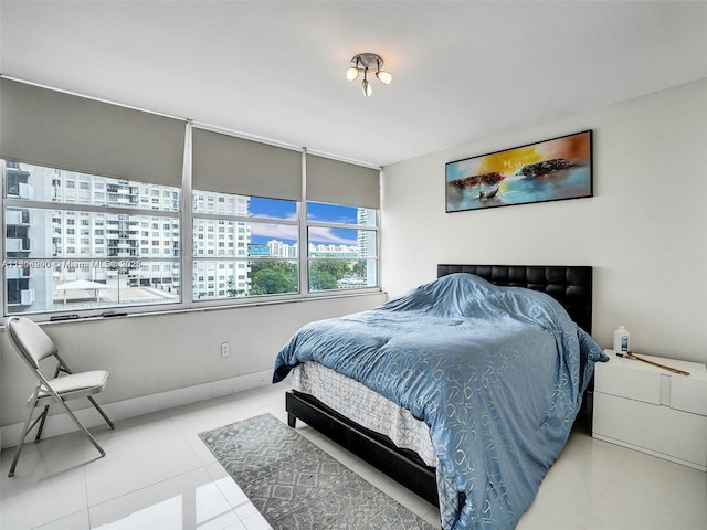
[[[304,326],[273,380],[316,361],[410,410],[430,426],[442,527],[499,530],[532,504],[605,360],[548,295],[460,273]]]

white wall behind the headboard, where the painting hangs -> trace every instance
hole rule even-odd
[[[445,213],[445,162],[585,129],[593,198]],[[707,80],[386,167],[381,218],[390,297],[437,263],[592,265],[602,347],[707,363]]]

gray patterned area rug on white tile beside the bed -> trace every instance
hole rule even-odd
[[[434,530],[271,414],[199,436],[274,530]]]

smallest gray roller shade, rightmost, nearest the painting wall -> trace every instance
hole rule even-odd
[[[307,200],[380,209],[380,171],[307,155]]]

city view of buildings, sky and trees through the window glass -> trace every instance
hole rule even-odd
[[[4,167],[6,314],[181,304],[180,190],[13,161]],[[77,200],[72,181],[92,193]],[[107,200],[102,189],[110,191]],[[165,200],[144,200],[156,197]],[[374,209],[307,202],[305,218],[297,201],[200,190],[191,202],[186,258],[194,303],[379,286]]]

